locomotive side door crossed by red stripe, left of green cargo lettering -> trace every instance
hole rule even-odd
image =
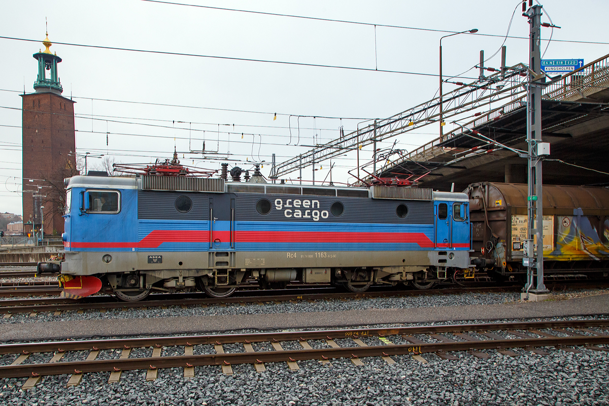
[[[234,251],[235,196],[209,198],[209,251]]]

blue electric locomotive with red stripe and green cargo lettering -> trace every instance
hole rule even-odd
[[[60,271],[64,297],[105,289],[125,301],[192,290],[225,297],[256,281],[428,289],[473,271],[464,193],[236,180],[69,178],[65,249],[38,270]]]

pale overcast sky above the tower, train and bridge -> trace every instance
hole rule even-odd
[[[389,117],[432,99],[438,91],[438,40],[443,35],[479,30],[476,35],[443,40],[445,76],[472,68],[481,49],[486,57],[498,51],[515,7],[509,35],[529,35],[519,1],[513,0],[183,2],[414,29],[377,26],[375,40],[375,27],[363,24],[141,0],[55,0],[4,2],[0,36],[42,41],[47,18],[49,39],[54,43],[424,74],[63,44],[51,47],[63,59],[58,65],[63,96],[77,102],[78,153],[104,154],[122,163],[150,163],[171,156],[175,142],[177,150],[185,153],[183,163],[218,169],[219,161],[203,162],[200,154],[187,153],[200,150],[205,139],[206,150],[228,156],[231,166],[251,169],[251,161],[266,161],[262,171],[268,175],[272,153],[281,163],[306,152],[309,147],[304,145],[336,138],[340,125],[348,133],[365,119]],[[583,58],[588,63],[609,53],[608,1],[547,0],[542,4],[552,22],[562,27],[554,30],[544,58]],[[542,21],[548,21],[546,15]],[[550,29],[542,30],[542,38],[549,34]],[[4,183],[0,212],[21,214],[19,93],[24,89],[33,92],[37,61],[32,54],[44,47],[40,42],[2,38],[0,44],[0,182]],[[505,45],[507,65],[526,63],[525,39],[507,38]],[[486,65],[498,68],[500,55]],[[463,77],[477,74],[472,69]],[[445,85],[445,91],[455,87]],[[437,124],[429,125],[396,137],[397,146],[411,150],[437,136]],[[362,162],[370,159],[370,151],[370,147],[364,148]],[[89,166],[95,161],[100,159],[88,159]],[[347,170],[355,166],[354,155],[333,162],[334,181],[353,181]],[[322,163],[315,180],[326,177],[328,167]],[[283,178],[297,177],[294,172]],[[311,178],[311,168],[303,170],[303,179]]]

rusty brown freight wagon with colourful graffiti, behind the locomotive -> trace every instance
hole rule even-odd
[[[470,198],[473,256],[494,264],[489,271],[498,278],[524,275],[527,185],[473,183],[465,193]],[[607,277],[609,189],[544,186],[543,234],[545,273],[594,273]]]

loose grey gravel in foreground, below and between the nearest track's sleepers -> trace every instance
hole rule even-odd
[[[595,317],[573,317],[587,320]],[[599,315],[596,318],[606,318]],[[558,320],[557,318],[537,321]],[[560,319],[563,320],[563,319]],[[502,320],[499,323],[524,320]],[[536,321],[532,319],[529,321]],[[469,323],[484,323],[471,320]],[[452,323],[435,323],[452,324]],[[399,324],[371,327],[419,326]],[[254,331],[239,331],[240,333]],[[507,334],[504,334],[507,335]],[[426,341],[430,337],[420,336]],[[390,337],[398,344],[400,337]],[[484,337],[481,337],[484,338]],[[335,340],[341,346],[355,346],[350,339]],[[368,345],[379,345],[376,337],[362,338]],[[327,346],[309,341],[313,348]],[[298,341],[281,343],[284,349],[300,348]],[[256,351],[272,351],[270,343],[255,343]],[[226,352],[244,351],[242,345],[224,345]],[[252,365],[234,365],[233,375],[222,374],[219,366],[195,368],[194,379],[183,377],[182,368],[160,369],[154,382],[146,382],[146,371],[124,371],[119,383],[108,384],[110,373],[85,374],[78,387],[66,388],[69,376],[48,376],[33,390],[22,391],[26,379],[0,380],[2,405],[608,405],[609,352],[581,349],[580,354],[544,348],[549,355],[536,355],[516,349],[518,357],[486,351],[491,358],[477,359],[456,352],[458,360],[442,360],[424,354],[428,363],[409,355],[393,356],[395,364],[378,357],[361,359],[355,366],[350,359],[336,359],[322,365],[300,361],[300,369],[286,363],[267,363],[264,373]],[[213,353],[212,345],[197,345],[195,354]],[[121,350],[101,351],[99,358],[118,358]],[[146,357],[151,348],[133,349],[130,357]],[[183,347],[166,348],[163,355],[183,354]],[[32,355],[33,357],[33,355]],[[32,358],[30,357],[30,358]],[[39,362],[51,354],[40,354]],[[86,357],[86,352],[66,354],[63,360]],[[0,364],[12,362],[0,357]]]

